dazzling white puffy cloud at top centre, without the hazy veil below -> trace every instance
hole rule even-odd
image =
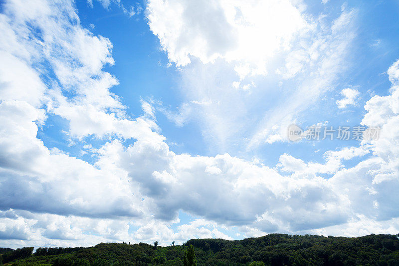
[[[147,11],[151,30],[178,66],[189,64],[191,56],[203,63],[223,58],[234,62],[241,78],[266,73],[269,58],[309,27],[288,0],[151,0]]]

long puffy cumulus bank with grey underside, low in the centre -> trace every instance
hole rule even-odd
[[[312,227],[309,224],[329,224],[333,217],[335,222],[346,219],[347,203],[341,202],[328,182],[317,176],[293,179],[228,154],[177,155],[164,142],[137,141],[124,149],[114,141],[101,153],[104,157],[98,164],[107,165],[110,158],[117,158],[114,163],[139,184],[142,195],[154,204],[155,217],[161,220],[173,220],[183,210],[220,224],[242,226],[255,223],[257,216],[267,213],[269,228],[297,230],[305,223]],[[213,185],[209,187],[209,183]],[[306,206],[309,214],[319,213],[322,208],[323,215],[292,220],[289,216],[295,217],[299,209],[305,211],[292,204]],[[257,223],[265,228],[264,223]]]

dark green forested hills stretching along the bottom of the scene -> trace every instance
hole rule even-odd
[[[32,248],[23,248],[7,251],[3,256],[7,262],[13,258],[8,265],[15,266],[399,266],[399,239],[394,235],[343,238],[270,234],[237,241],[192,239],[183,246],[157,248],[145,243],[101,243],[90,248],[45,248],[31,252]]]

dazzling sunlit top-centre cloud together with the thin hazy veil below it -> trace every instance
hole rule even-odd
[[[165,113],[180,126],[199,123],[213,152],[286,140],[287,127],[317,104],[345,70],[355,9],[343,8],[338,17],[314,17],[306,6],[288,1],[191,5],[150,1],[148,18],[170,60],[186,65],[180,86],[185,102],[177,112]],[[273,15],[265,15],[269,10]],[[200,16],[216,21],[194,20]]]

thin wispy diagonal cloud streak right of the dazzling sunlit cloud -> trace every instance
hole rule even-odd
[[[284,86],[289,92],[286,97],[262,114],[263,118],[249,138],[249,149],[254,149],[264,142],[286,140],[288,126],[296,123],[298,117],[317,104],[320,97],[333,86],[338,74],[347,67],[344,58],[356,36],[356,14],[356,9],[343,8],[340,16],[331,24],[324,21],[324,15],[320,15],[318,26],[315,27],[315,31],[311,31],[312,37],[308,40],[305,38],[300,42],[303,44],[294,47],[291,52],[305,53],[306,57],[290,54],[285,57],[286,64],[278,68],[277,73],[283,78],[295,77],[295,80],[289,82],[289,86]],[[298,64],[304,69],[301,75],[298,75]],[[278,135],[280,137],[277,137]]]

